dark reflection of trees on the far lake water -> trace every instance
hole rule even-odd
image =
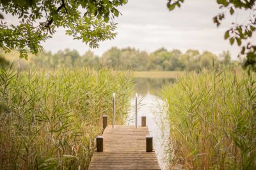
[[[150,93],[151,95],[159,96],[162,86],[164,84],[172,84],[176,79],[150,79],[150,78],[135,78],[135,91],[140,95],[147,95]]]

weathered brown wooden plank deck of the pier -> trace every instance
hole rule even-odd
[[[95,151],[89,169],[160,169],[156,153],[146,151],[147,127],[108,126],[103,151]]]

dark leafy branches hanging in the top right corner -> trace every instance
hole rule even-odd
[[[167,7],[169,10],[174,10],[180,7],[184,3],[184,0],[168,0]],[[223,12],[213,17],[213,22],[216,26],[220,26],[225,15],[230,13],[234,15],[238,10],[250,10],[250,16],[247,22],[242,24],[232,23],[230,29],[225,32],[224,38],[228,40],[231,45],[235,43],[241,47],[239,56],[246,56],[246,60],[243,63],[243,68],[253,70],[256,72],[256,45],[253,45],[252,40],[253,33],[256,30],[256,6],[255,0],[217,0],[220,5],[220,9]]]

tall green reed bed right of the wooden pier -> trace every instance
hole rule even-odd
[[[255,75],[186,73],[162,96],[170,169],[256,169]]]

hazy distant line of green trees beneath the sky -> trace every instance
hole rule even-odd
[[[3,54],[1,54],[3,56]],[[4,57],[8,60],[8,56]],[[52,52],[40,52],[37,56],[31,56],[29,65],[44,68],[56,69],[61,67],[74,66],[107,66],[120,70],[132,69],[134,71],[199,71],[202,68],[233,68],[241,61],[232,61],[230,52],[224,51],[220,55],[205,51],[202,54],[198,50],[187,50],[182,53],[180,50],[158,49],[152,53],[140,51],[134,48],[118,49],[112,47],[104,52],[102,56],[96,56],[92,50],[88,50],[82,56],[77,50],[60,50],[55,54]],[[22,67],[26,63],[22,62]]]

